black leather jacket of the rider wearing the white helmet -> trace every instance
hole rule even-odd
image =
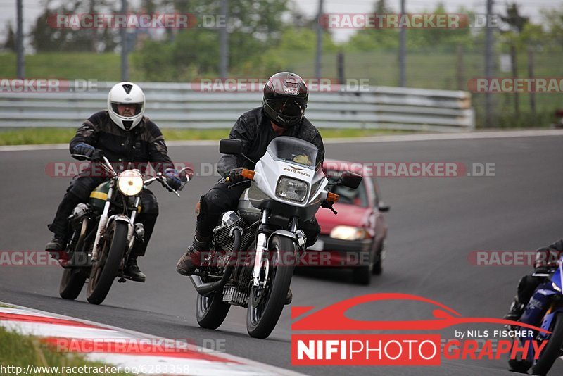
[[[156,171],[163,173],[166,168],[174,167],[160,128],[147,117],[126,131],[113,123],[108,111],[99,111],[78,128],[70,140],[70,153],[81,142],[103,150],[114,168],[121,164],[127,167],[131,162],[144,172],[146,163],[150,162]]]

